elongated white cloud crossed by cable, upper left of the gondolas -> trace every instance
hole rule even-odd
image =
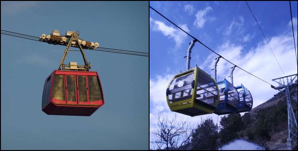
[[[175,45],[176,48],[179,48],[187,38],[187,34],[184,33],[182,30],[167,26],[162,21],[157,21],[150,17],[149,22],[150,22],[150,27],[152,27],[151,29],[153,31],[161,32],[164,36],[168,37],[169,39],[173,39],[176,43]],[[189,29],[187,28],[186,24],[182,24],[178,26],[183,30],[185,30],[186,32],[189,32]]]

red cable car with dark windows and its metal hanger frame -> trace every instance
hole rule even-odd
[[[78,33],[71,32],[68,36],[68,45],[59,69],[54,70],[45,80],[42,111],[48,115],[90,116],[105,104],[100,78],[97,72],[89,71],[91,64],[87,64]],[[80,48],[85,65],[77,65],[76,62],[63,64],[71,44]]]

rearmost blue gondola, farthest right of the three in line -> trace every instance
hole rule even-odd
[[[248,91],[242,84],[235,88],[237,89],[240,97],[237,113],[249,112],[253,105],[253,98],[250,94],[250,91]]]

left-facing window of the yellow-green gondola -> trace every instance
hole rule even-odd
[[[193,93],[193,89],[191,86],[191,83],[193,82],[193,77],[194,73],[190,73],[172,80],[169,88],[169,100],[171,100],[170,103],[191,98],[191,95]],[[182,97],[185,98],[182,99]]]

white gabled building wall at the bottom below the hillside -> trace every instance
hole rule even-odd
[[[238,137],[216,147],[216,150],[265,150],[265,146],[250,141],[247,137]]]

